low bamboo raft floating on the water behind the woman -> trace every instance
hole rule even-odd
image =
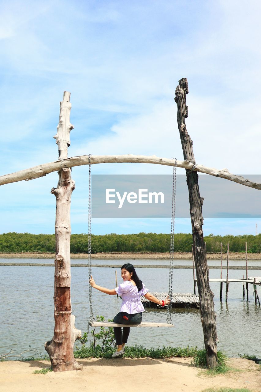
[[[150,292],[160,301],[164,301],[168,293]],[[141,296],[141,302],[144,307],[162,308],[161,305],[150,302],[149,299]],[[199,296],[191,293],[172,293],[172,308],[199,308]]]

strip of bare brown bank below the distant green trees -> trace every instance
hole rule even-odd
[[[223,253],[223,260],[225,260],[227,255]],[[230,260],[245,260],[245,253],[239,252],[230,252],[229,258]],[[21,259],[54,259],[54,253],[0,253],[0,258],[2,259],[13,259],[13,258],[21,258]],[[77,253],[71,254],[71,259],[87,259],[88,254],[86,253]],[[248,253],[248,260],[261,260],[261,253]],[[92,254],[93,260],[101,260],[101,259],[115,259],[115,260],[124,260],[124,259],[169,259],[169,252],[165,253],[152,253],[152,252],[111,252],[111,253],[96,253]],[[187,259],[192,260],[191,252],[175,252],[174,259]],[[220,253],[207,253],[208,260],[219,260]]]

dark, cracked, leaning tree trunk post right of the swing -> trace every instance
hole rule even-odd
[[[188,94],[188,82],[186,78],[179,80],[179,86],[176,88],[175,101],[178,106],[178,128],[183,149],[184,160],[196,162],[192,150],[192,140],[188,135],[185,118],[188,116],[188,107],[186,106],[186,94]],[[188,198],[190,203],[190,218],[192,223],[193,236],[193,255],[196,266],[196,275],[198,283],[199,304],[201,323],[203,326],[204,342],[207,352],[207,366],[214,368],[217,366],[217,328],[216,314],[214,312],[214,294],[210,290],[208,279],[207,249],[203,237],[203,216],[202,205],[203,198],[199,194],[198,173],[187,170]]]

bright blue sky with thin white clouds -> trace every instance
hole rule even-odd
[[[196,162],[259,175],[260,13],[255,0],[0,1],[0,175],[58,158],[53,136],[63,91],[71,92],[69,157],[183,160],[174,102],[183,77]],[[92,174],[172,174],[172,168],[114,163],[92,165]],[[88,167],[72,168],[72,179],[72,233],[86,233]],[[0,233],[53,233],[50,192],[57,182],[54,172],[2,185]],[[250,189],[249,203],[251,192],[258,191]],[[221,204],[222,198],[223,192]],[[205,218],[203,230],[255,235],[256,224],[259,232],[260,210],[246,217],[242,205],[242,216]],[[168,233],[170,218],[93,218],[92,231]],[[190,219],[177,218],[175,231],[191,232]]]

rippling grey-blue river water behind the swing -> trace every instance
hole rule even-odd
[[[9,259],[13,263],[52,263],[46,259]],[[124,260],[123,262],[130,260]],[[0,259],[0,262],[7,262]],[[138,265],[167,264],[167,260],[131,260],[137,265],[137,273],[151,292],[167,292],[169,285],[168,269],[139,269]],[[72,260],[73,263],[87,263],[87,260]],[[93,260],[93,263],[120,265],[120,260]],[[190,260],[175,260],[181,265],[191,265]],[[218,260],[211,260],[209,265],[219,265]],[[230,265],[244,265],[244,261],[230,261]],[[249,261],[248,265],[260,266],[261,261]],[[244,268],[244,267],[242,267]],[[92,275],[97,284],[103,287],[115,287],[115,270],[119,284],[120,268],[93,268]],[[53,267],[0,267],[2,276],[1,290],[1,324],[0,354],[11,348],[15,354],[29,348],[29,345],[41,354],[45,354],[44,343],[53,337],[54,305],[53,305]],[[71,270],[72,314],[75,315],[75,326],[87,330],[89,319],[89,287],[88,270],[84,267],[72,267]],[[239,279],[245,270],[231,270],[229,278]],[[249,276],[260,276],[260,270],[249,270]],[[209,270],[210,278],[220,278],[219,270]],[[225,277],[225,271],[224,271]],[[173,292],[193,292],[192,269],[173,270]],[[249,301],[242,296],[242,284],[230,283],[228,303],[219,301],[220,283],[210,283],[214,292],[215,311],[217,314],[218,350],[228,356],[238,353],[256,354],[261,358],[260,316],[261,310],[254,303],[253,286],[249,285]],[[257,287],[261,298],[260,286]],[[225,299],[225,284],[223,284]],[[120,311],[121,299],[92,290],[92,302],[95,315],[113,318]],[[166,319],[164,309],[145,309],[143,321],[161,321]],[[203,348],[203,332],[199,309],[172,309],[174,328],[140,328],[131,330],[129,345],[141,344],[144,347],[198,346]],[[24,354],[30,356],[31,353]]]

